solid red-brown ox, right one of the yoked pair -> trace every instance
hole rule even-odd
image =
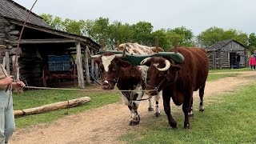
[[[170,51],[174,51],[170,50]],[[177,127],[177,122],[170,114],[170,98],[175,105],[182,105],[185,114],[184,128],[190,128],[189,113],[192,113],[193,92],[199,89],[200,106],[203,111],[203,94],[208,76],[208,58],[202,48],[178,47],[178,52],[184,56],[182,63],[171,59],[152,57],[145,58],[141,64],[149,66],[146,90],[162,90],[163,106],[170,126]],[[154,95],[157,91],[149,91]]]

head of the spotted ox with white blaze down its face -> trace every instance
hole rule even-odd
[[[98,63],[102,71],[102,89],[113,90],[120,76],[120,68],[130,66],[129,62],[121,59],[126,57],[125,49],[122,54],[105,52],[98,55],[91,55],[90,50],[86,47],[86,52],[89,54],[90,58],[93,58],[94,61]]]

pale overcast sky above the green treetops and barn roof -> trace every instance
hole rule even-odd
[[[30,10],[35,0],[14,2]],[[251,34],[256,33],[255,6],[255,0],[38,0],[32,11],[63,19],[150,22],[154,30],[185,26],[194,35],[212,26]]]

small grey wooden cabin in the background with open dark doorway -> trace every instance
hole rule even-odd
[[[240,67],[247,66],[248,48],[233,39],[216,42],[213,46],[206,48],[210,69],[230,68],[230,61],[234,61],[237,53],[240,54]],[[235,62],[235,61],[234,61]],[[234,63],[236,67],[236,63]]]

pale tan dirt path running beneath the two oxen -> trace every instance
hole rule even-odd
[[[205,102],[207,97],[233,90],[237,86],[250,83],[256,71],[235,72],[242,73],[238,77],[222,78],[215,82],[207,82]],[[217,73],[216,73],[217,74]],[[223,73],[222,73],[223,74]],[[198,91],[195,92],[198,98]],[[162,98],[160,99],[162,113]],[[138,112],[141,122],[147,117],[153,118],[153,112],[147,112],[147,102],[141,102]],[[74,143],[121,143],[116,138],[125,134],[127,130],[136,130],[138,126],[128,126],[130,110],[123,104],[114,103],[87,110],[81,114],[74,114],[61,118],[50,124],[34,126],[29,130],[17,130],[10,140],[10,144],[74,144]]]

